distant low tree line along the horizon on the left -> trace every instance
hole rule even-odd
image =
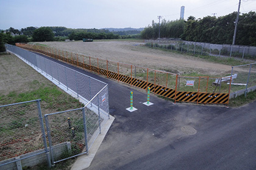
[[[4,43],[15,44],[15,42],[82,40],[82,38],[140,38],[140,31],[110,32],[107,29],[68,29],[66,27],[26,27],[18,30],[10,27],[2,30],[1,36]]]

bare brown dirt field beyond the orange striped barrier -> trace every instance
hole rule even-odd
[[[165,70],[173,73],[198,73],[212,77],[231,72],[231,66],[210,63],[201,58],[140,46],[136,41],[40,42],[50,47],[119,63]]]

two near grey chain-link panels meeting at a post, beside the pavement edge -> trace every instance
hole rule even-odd
[[[53,164],[88,154],[109,118],[106,92],[100,90],[85,107],[44,115]]]

